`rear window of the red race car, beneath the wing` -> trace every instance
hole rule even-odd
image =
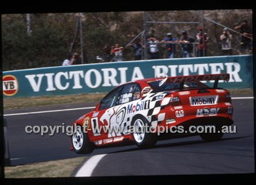
[[[180,83],[161,83],[162,81],[153,81],[148,83],[153,89],[153,92],[169,91],[180,88]],[[209,86],[201,82],[184,82],[183,89],[187,88],[209,88]]]

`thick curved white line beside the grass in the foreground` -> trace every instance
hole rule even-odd
[[[93,173],[93,170],[99,163],[99,161],[105,156],[106,154],[94,155],[89,160],[84,163],[84,165],[78,170],[76,173],[76,177],[90,177]]]

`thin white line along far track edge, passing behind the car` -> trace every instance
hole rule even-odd
[[[232,97],[232,99],[253,99],[254,97]],[[59,109],[51,111],[38,111],[38,112],[27,112],[27,113],[15,113],[15,114],[4,114],[4,116],[19,116],[27,114],[41,114],[41,113],[53,113],[53,112],[62,112],[62,111],[75,111],[83,109],[94,109],[95,107],[84,107],[84,108],[73,108],[73,109]]]

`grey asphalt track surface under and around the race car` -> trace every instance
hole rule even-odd
[[[235,95],[233,95],[235,96]],[[237,96],[236,96],[237,97]],[[104,154],[92,176],[222,174],[254,172],[253,99],[234,99],[233,119],[236,134],[226,134],[221,141],[205,143],[199,136],[157,142],[152,149],[135,145],[100,148],[89,154]],[[93,107],[96,103],[51,105],[4,114]],[[40,136],[26,134],[27,125],[70,125],[90,110],[5,116],[11,165],[80,157],[70,151],[70,137],[65,134]],[[86,155],[84,155],[86,156]]]

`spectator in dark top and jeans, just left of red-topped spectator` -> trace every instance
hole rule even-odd
[[[180,38],[180,43],[182,43],[182,58],[189,58],[193,57],[193,43],[195,42],[195,39],[193,39],[190,35],[187,35],[187,32],[185,30],[182,31],[182,36]]]

